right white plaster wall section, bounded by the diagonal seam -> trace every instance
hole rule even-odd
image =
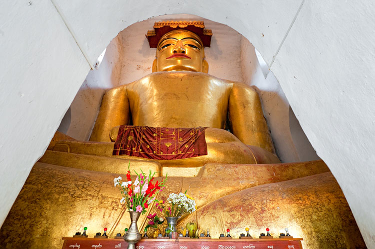
[[[375,2],[306,1],[271,70],[375,248]]]

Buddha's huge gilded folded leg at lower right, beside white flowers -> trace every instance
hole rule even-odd
[[[196,222],[212,238],[230,229],[232,237],[245,233],[257,238],[265,228],[274,238],[288,228],[303,238],[303,248],[365,248],[346,199],[330,172],[251,187],[225,195],[198,208],[177,226]]]

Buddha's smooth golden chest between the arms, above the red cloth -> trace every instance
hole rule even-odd
[[[151,74],[126,87],[134,125],[223,128],[231,86],[196,73]]]

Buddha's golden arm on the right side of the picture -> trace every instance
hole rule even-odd
[[[233,84],[228,112],[230,130],[242,143],[274,153],[259,95],[253,88]]]

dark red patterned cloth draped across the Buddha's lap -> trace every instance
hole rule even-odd
[[[204,137],[206,128],[121,125],[112,154],[156,160],[173,160],[207,155],[207,144]]]

